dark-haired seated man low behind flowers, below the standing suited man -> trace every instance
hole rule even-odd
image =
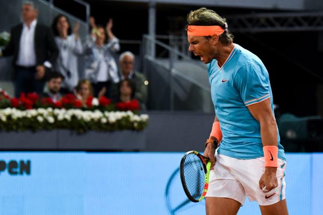
[[[62,98],[60,93],[61,85],[64,80],[64,76],[59,72],[51,72],[47,76],[46,89],[42,97],[49,97],[53,102],[57,102]]]

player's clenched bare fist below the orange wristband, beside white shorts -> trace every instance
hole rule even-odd
[[[265,172],[261,175],[259,180],[259,188],[263,192],[267,193],[278,186],[276,167],[266,167]],[[265,188],[265,189],[264,189]]]

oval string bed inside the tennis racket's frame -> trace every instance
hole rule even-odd
[[[196,154],[188,154],[185,158],[184,176],[189,194],[198,200],[204,191],[204,167]]]

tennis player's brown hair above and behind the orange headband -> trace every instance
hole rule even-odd
[[[200,9],[189,12],[189,14],[187,15],[186,30],[188,25],[199,25],[199,26],[219,25],[223,29],[225,29],[226,28],[225,23],[226,23],[225,18],[220,17],[213,10],[202,7]],[[210,38],[210,36],[207,36],[206,38]],[[226,45],[229,43],[232,43],[233,35],[228,30],[227,32],[224,32],[219,36],[219,41]]]

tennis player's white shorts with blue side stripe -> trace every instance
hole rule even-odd
[[[248,196],[259,205],[272,205],[285,199],[286,161],[278,158],[278,187],[268,193],[259,188],[259,179],[265,172],[264,158],[243,160],[216,154],[214,169],[210,171],[206,197],[225,197],[243,205]]]

